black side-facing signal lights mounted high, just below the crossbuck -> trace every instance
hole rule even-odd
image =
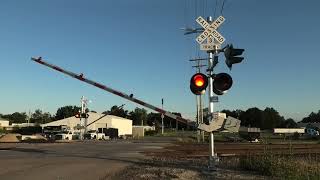
[[[231,70],[232,64],[240,63],[244,57],[238,57],[242,55],[244,49],[234,49],[233,45],[227,45],[226,49],[224,50],[224,56],[226,57],[226,64]]]

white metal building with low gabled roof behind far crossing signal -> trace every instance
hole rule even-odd
[[[132,120],[130,119],[125,119],[125,118],[113,116],[113,115],[104,116],[104,114],[93,113],[93,112],[89,112],[88,114],[89,114],[88,122],[87,122],[87,124],[89,125],[87,127],[88,131],[96,130],[99,132],[103,132],[103,129],[105,128],[116,128],[118,129],[119,136],[132,135]],[[99,120],[96,121],[97,119]],[[70,130],[74,130],[75,127],[79,125],[81,125],[80,118],[76,118],[72,116],[66,119],[61,119],[58,121],[42,124],[41,126],[42,128],[46,126],[67,126]]]

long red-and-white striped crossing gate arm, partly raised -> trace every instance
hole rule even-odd
[[[32,57],[31,60],[33,60],[33,61],[35,61],[35,62],[37,62],[37,63],[39,63],[39,64],[42,64],[42,65],[44,65],[44,66],[50,67],[50,68],[52,68],[52,69],[54,69],[54,70],[56,70],[56,71],[59,71],[59,72],[61,72],[61,73],[63,73],[63,74],[69,75],[69,76],[71,76],[71,77],[73,77],[73,78],[75,78],[75,79],[78,79],[78,80],[80,80],[80,81],[83,81],[83,82],[86,82],[86,83],[88,83],[88,84],[91,84],[91,85],[93,85],[93,86],[95,86],[95,87],[97,87],[97,88],[100,88],[100,89],[102,89],[102,90],[105,90],[105,91],[107,91],[107,92],[110,92],[110,93],[112,93],[112,94],[115,94],[115,95],[117,95],[117,96],[120,96],[120,97],[122,97],[122,98],[125,98],[125,99],[127,99],[127,100],[129,100],[129,101],[132,101],[132,102],[135,102],[135,103],[137,103],[137,104],[140,104],[141,106],[147,107],[147,108],[152,109],[152,110],[154,110],[154,111],[156,111],[156,112],[159,112],[159,113],[161,113],[161,114],[164,114],[165,116],[168,116],[168,117],[170,117],[170,118],[172,118],[172,119],[175,119],[175,120],[177,120],[177,121],[179,121],[179,122],[181,122],[181,123],[187,124],[188,121],[190,121],[190,120],[188,120],[188,119],[184,119],[184,118],[182,118],[182,117],[179,117],[179,116],[177,116],[177,115],[174,115],[174,114],[172,114],[172,113],[170,113],[170,112],[168,112],[168,111],[165,111],[165,110],[163,110],[163,109],[161,109],[161,108],[158,108],[158,107],[156,107],[156,106],[153,106],[153,105],[151,105],[151,104],[148,104],[148,103],[146,103],[146,102],[143,102],[143,101],[141,101],[141,100],[139,100],[139,99],[136,99],[136,98],[134,98],[132,95],[127,95],[127,94],[125,94],[125,93],[123,93],[123,92],[114,90],[114,89],[112,89],[112,88],[110,88],[110,87],[107,87],[107,86],[105,86],[105,85],[103,85],[103,84],[100,84],[100,83],[97,83],[97,82],[92,81],[92,80],[90,80],[90,79],[87,79],[87,78],[83,77],[83,74],[78,75],[78,74],[73,73],[73,72],[71,72],[71,71],[64,70],[64,69],[62,69],[62,68],[60,68],[60,67],[58,67],[58,66],[49,64],[49,63],[43,61],[41,57],[39,57],[39,58],[33,58],[33,57]]]

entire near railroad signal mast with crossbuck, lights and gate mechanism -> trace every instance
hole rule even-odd
[[[216,20],[213,21],[212,17],[209,16],[207,21],[199,16],[196,19],[196,22],[201,26],[200,28],[192,29],[186,28],[185,35],[200,33],[200,35],[196,38],[196,41],[200,45],[200,50],[206,51],[208,53],[208,58],[199,58],[199,59],[191,59],[190,61],[196,60],[208,60],[208,69],[207,75],[202,73],[194,74],[190,79],[190,90],[195,95],[204,94],[208,87],[208,99],[209,99],[209,116],[207,124],[198,124],[198,129],[204,130],[210,133],[210,154],[209,154],[209,169],[215,169],[215,164],[218,161],[218,157],[214,152],[214,136],[213,131],[219,131],[222,129],[229,129],[230,131],[234,131],[239,129],[240,121],[235,118],[229,118],[226,121],[217,116],[214,116],[214,103],[218,102],[218,96],[225,94],[232,86],[233,80],[231,76],[227,73],[214,73],[215,66],[219,63],[219,53],[224,52],[225,55],[225,63],[227,67],[231,70],[232,65],[236,63],[240,63],[244,58],[239,57],[244,52],[244,49],[235,49],[233,45],[227,45],[224,48],[221,48],[221,45],[224,43],[225,38],[217,31],[219,26],[225,21],[223,16],[219,16]],[[205,42],[206,43],[203,43]],[[214,96],[214,94],[218,96]],[[230,126],[229,124],[226,126],[226,123],[235,125]],[[223,125],[224,124],[224,125]]]

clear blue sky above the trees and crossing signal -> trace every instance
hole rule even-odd
[[[58,107],[92,100],[90,109],[136,104],[106,93],[32,61],[84,73],[135,97],[195,116],[189,80],[190,58],[206,57],[179,28],[198,26],[199,15],[217,17],[222,0],[3,0],[0,2],[0,113]],[[318,42],[320,2],[226,0],[226,43],[244,48],[245,60],[229,71],[220,55],[216,72],[234,84],[215,105],[221,109],[274,107],[300,120],[320,109]],[[207,105],[207,103],[206,103]]]

